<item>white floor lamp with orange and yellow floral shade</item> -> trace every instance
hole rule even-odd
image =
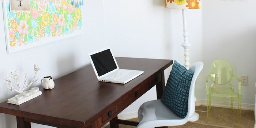
[[[199,9],[201,0],[165,0],[165,7],[172,9],[182,9],[182,17],[183,17],[183,31],[184,31],[184,42],[181,44],[184,47],[184,56],[185,56],[185,68],[189,68],[189,52],[188,48],[191,44],[188,43],[188,32],[186,27],[186,18],[185,18],[185,10],[186,9]],[[196,102],[196,97],[195,97]],[[199,115],[195,112],[192,117],[189,118],[189,121],[196,121],[199,119]]]

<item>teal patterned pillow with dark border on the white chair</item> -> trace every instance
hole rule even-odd
[[[174,60],[161,101],[179,117],[188,113],[188,93],[194,73]]]

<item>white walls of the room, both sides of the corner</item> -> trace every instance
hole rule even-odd
[[[84,0],[84,34],[42,46],[7,54],[4,26],[0,26],[0,80],[14,69],[20,76],[33,76],[33,64],[40,67],[39,78],[52,75],[58,78],[89,64],[88,52],[111,46],[115,56],[173,59],[184,63],[183,28],[181,10],[164,8],[164,0]],[[241,5],[242,3],[242,5]],[[2,3],[1,3],[2,4]],[[196,97],[206,99],[205,76],[209,65],[218,58],[227,59],[237,76],[248,75],[248,86],[243,86],[243,103],[254,104],[255,94],[255,41],[256,1],[227,2],[205,0],[201,10],[187,11],[190,63],[204,62],[204,69],[197,79]],[[239,6],[240,5],[240,6]],[[0,5],[0,24],[3,22]],[[166,80],[170,68],[165,72]],[[33,86],[40,86],[36,82]],[[0,102],[15,95],[0,81]],[[150,90],[123,113],[138,110],[140,104],[156,99]],[[1,128],[16,128],[15,116],[0,114]],[[49,126],[32,124],[32,127]]]

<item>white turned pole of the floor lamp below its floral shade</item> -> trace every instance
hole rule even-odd
[[[185,63],[184,66],[185,68],[189,68],[189,53],[188,53],[188,48],[190,47],[191,44],[188,43],[188,32],[187,32],[187,26],[186,26],[186,17],[185,17],[185,9],[182,9],[182,17],[183,17],[183,31],[184,31],[184,43],[181,44],[182,47],[184,47],[184,56],[185,56]]]

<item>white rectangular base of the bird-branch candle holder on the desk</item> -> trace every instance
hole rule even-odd
[[[20,99],[20,100],[17,100],[15,97],[12,97],[12,98],[7,100],[7,103],[20,105],[20,104],[22,104],[24,102],[27,102],[28,100],[36,98],[39,95],[42,95],[41,91],[37,91],[35,93],[31,93],[29,96],[23,96],[22,99]]]

